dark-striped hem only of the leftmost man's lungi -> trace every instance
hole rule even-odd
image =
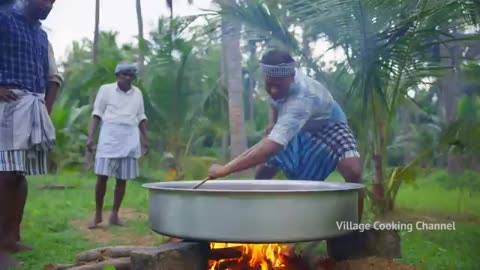
[[[44,151],[0,151],[0,172],[20,172],[25,175],[45,175],[48,156]]]

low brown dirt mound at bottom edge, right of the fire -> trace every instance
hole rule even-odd
[[[335,270],[416,270],[412,265],[395,262],[392,259],[368,257],[339,262]]]

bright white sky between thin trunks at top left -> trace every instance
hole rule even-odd
[[[100,30],[117,31],[119,42],[133,41],[138,34],[135,0],[101,0]],[[210,0],[174,0],[175,15],[193,15],[212,8]],[[144,32],[154,29],[161,15],[168,15],[165,0],[142,0]],[[95,24],[95,0],[57,0],[50,16],[43,22],[57,60],[62,60],[73,40],[92,39]]]

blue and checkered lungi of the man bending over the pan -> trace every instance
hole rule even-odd
[[[301,131],[266,166],[282,169],[288,179],[323,181],[350,157],[360,157],[351,129],[329,122],[315,132]]]

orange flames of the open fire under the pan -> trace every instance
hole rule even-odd
[[[211,243],[209,270],[287,269],[287,245]]]

